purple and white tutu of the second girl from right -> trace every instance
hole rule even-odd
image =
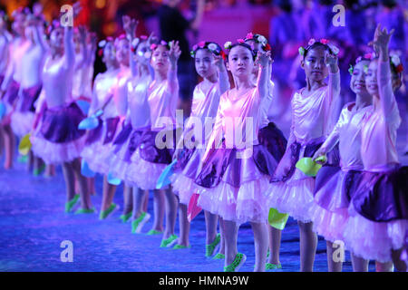
[[[318,171],[310,217],[314,231],[326,240],[344,240],[350,197],[354,195],[360,176],[361,171],[332,166],[324,166]]]

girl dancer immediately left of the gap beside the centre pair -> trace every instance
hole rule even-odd
[[[131,157],[137,169],[131,171],[140,189],[154,189],[155,198],[162,198],[162,190],[156,189],[157,180],[163,169],[171,162],[176,147],[176,107],[179,95],[177,80],[177,61],[180,57],[179,43],[151,44],[151,66],[154,80],[148,89],[148,102],[151,112],[151,130],[143,134],[141,145]],[[164,136],[163,136],[164,135]],[[165,142],[165,144],[163,144]],[[177,199],[170,187],[165,189],[166,228],[160,247],[167,247],[177,236],[174,226],[177,218]],[[156,202],[160,206],[161,202]],[[155,208],[160,214],[162,208]],[[157,218],[157,220],[160,220]],[[151,229],[148,235],[160,234]]]

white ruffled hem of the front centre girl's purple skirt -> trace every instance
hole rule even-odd
[[[241,184],[235,188],[225,181],[212,189],[199,188],[200,208],[238,223],[267,222],[267,176]]]

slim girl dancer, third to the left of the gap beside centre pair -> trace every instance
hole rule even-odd
[[[111,150],[112,141],[119,133],[119,128],[127,111],[127,82],[131,76],[129,45],[129,41],[123,34],[114,41],[115,57],[119,69],[112,68],[112,72],[109,73],[110,77],[113,77],[114,73],[116,73],[116,77],[112,87],[108,89],[108,95],[104,96],[105,102],[102,103],[102,106],[105,106],[101,116],[102,136],[101,139],[92,143],[92,146],[87,147],[82,153],[82,157],[88,163],[89,168],[104,175],[100,219],[108,218],[118,208],[113,203],[116,186],[108,182],[110,162],[107,157]]]

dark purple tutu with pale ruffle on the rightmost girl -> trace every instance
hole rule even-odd
[[[408,229],[408,167],[363,171],[350,201],[345,245],[356,256],[379,262],[404,245]]]

